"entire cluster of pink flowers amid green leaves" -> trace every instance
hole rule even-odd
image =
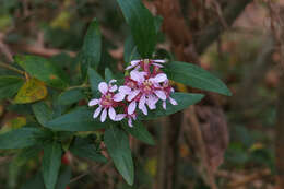
[[[177,105],[177,102],[170,97],[174,88],[170,86],[167,75],[161,70],[165,60],[133,60],[126,70],[131,70],[130,75],[125,78],[122,86],[114,84],[116,80],[109,83],[100,82],[98,90],[102,93],[100,98],[92,99],[88,106],[98,105],[94,113],[94,118],[100,114],[100,121],[107,118],[114,121],[120,121],[128,118],[128,125],[132,127],[132,120],[137,119],[137,110],[140,109],[147,115],[149,109],[156,109],[156,104],[162,101],[162,106],[166,109],[166,101]],[[122,107],[123,113],[117,114],[115,108]]]

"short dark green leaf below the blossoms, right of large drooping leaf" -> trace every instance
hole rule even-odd
[[[134,138],[141,140],[142,142],[145,142],[150,145],[155,145],[155,141],[151,133],[146,130],[146,128],[143,126],[140,121],[133,121],[133,127],[129,127],[127,121],[122,121],[122,128],[129,132]]]

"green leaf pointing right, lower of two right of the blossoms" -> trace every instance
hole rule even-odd
[[[200,102],[204,97],[204,95],[203,94],[192,94],[192,93],[174,93],[171,95],[171,97],[174,99],[176,99],[178,105],[174,106],[167,101],[166,109],[164,109],[162,107],[162,102],[159,102],[156,105],[156,107],[157,107],[156,109],[150,110],[147,116],[144,116],[143,114],[139,114],[138,118],[140,120],[150,120],[150,119],[155,119],[157,117],[175,114],[177,111],[180,111],[180,110],[189,107],[190,105],[193,105],[193,104]]]

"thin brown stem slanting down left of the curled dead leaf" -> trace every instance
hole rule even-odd
[[[200,149],[200,156],[202,160],[202,163],[206,169],[208,178],[209,178],[209,185],[212,189],[217,189],[214,174],[209,165],[209,157],[206,153],[206,146],[202,137],[202,131],[200,129],[200,125],[196,115],[194,106],[190,106],[188,111],[185,111],[186,116],[189,118],[190,126],[192,127],[192,131],[197,138],[197,143]]]

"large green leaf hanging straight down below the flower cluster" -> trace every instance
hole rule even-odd
[[[113,126],[105,131],[104,141],[118,172],[129,185],[133,185],[134,166],[126,132]]]

